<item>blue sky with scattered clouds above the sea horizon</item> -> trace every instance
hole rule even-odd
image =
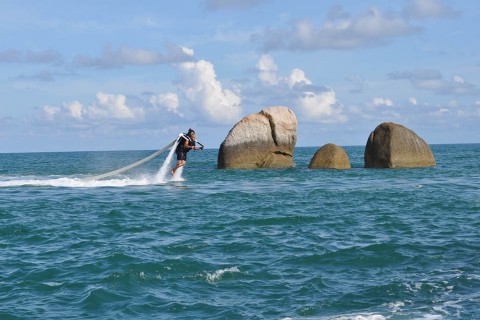
[[[478,30],[477,0],[2,0],[0,152],[218,148],[278,105],[297,146],[478,143]]]

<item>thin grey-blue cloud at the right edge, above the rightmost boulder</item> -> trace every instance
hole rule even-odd
[[[455,75],[449,81],[438,70],[391,72],[387,77],[390,80],[408,80],[416,89],[428,90],[437,94],[480,94],[480,90],[474,84],[465,81],[463,77]]]

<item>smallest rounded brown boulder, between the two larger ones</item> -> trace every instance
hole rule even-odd
[[[342,147],[328,143],[315,152],[309,169],[350,169],[350,159]]]

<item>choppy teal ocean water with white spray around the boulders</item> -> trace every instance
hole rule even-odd
[[[0,154],[0,319],[479,319],[480,144],[434,168]],[[174,162],[174,161],[173,161]]]

